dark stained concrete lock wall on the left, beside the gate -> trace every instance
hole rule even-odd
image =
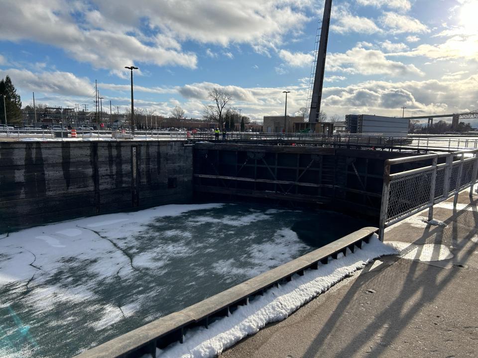
[[[192,198],[184,142],[0,142],[0,232]]]

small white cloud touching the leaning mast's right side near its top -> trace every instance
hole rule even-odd
[[[372,34],[381,31],[373,20],[370,20],[367,17],[353,15],[349,10],[348,5],[333,7],[332,12],[334,18],[334,22],[330,26],[332,31],[340,34],[350,32]]]

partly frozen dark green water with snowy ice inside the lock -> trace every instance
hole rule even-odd
[[[200,204],[0,234],[0,357],[72,357],[364,226]]]

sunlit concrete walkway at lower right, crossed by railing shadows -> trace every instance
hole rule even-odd
[[[389,228],[410,258],[376,260],[220,357],[478,357],[477,203],[464,191],[457,210],[453,198],[435,207],[446,226],[425,211]],[[417,260],[428,248],[453,258]]]

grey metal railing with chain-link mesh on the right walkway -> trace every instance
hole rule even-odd
[[[444,163],[438,164],[443,158]],[[419,168],[391,174],[394,165],[419,164]],[[470,187],[470,197],[477,180],[478,150],[428,154],[388,159],[383,175],[382,203],[380,208],[379,238],[383,241],[385,228],[428,208],[428,220],[433,220],[433,205]]]

